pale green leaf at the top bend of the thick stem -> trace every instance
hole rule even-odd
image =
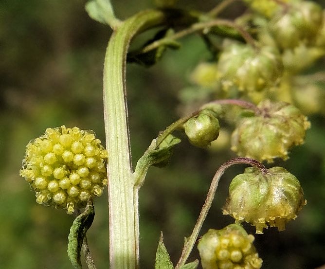
[[[115,17],[110,0],[90,0],[86,3],[85,9],[90,18],[116,28],[120,20]]]

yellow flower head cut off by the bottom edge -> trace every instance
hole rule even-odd
[[[253,241],[254,236],[239,224],[210,229],[198,244],[203,269],[260,269],[263,261]]]

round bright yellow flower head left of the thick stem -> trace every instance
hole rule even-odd
[[[20,176],[36,192],[39,204],[64,208],[68,214],[100,196],[107,185],[108,153],[92,131],[77,127],[47,128],[29,142]]]

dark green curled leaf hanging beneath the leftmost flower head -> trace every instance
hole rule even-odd
[[[94,216],[94,206],[92,200],[89,199],[85,211],[73,220],[68,236],[68,256],[74,269],[81,269],[81,246],[86,232],[92,224]]]

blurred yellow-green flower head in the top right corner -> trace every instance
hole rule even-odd
[[[282,49],[298,46],[301,42],[314,44],[322,27],[323,10],[314,1],[297,1],[287,10],[279,10],[270,21],[270,29]]]

